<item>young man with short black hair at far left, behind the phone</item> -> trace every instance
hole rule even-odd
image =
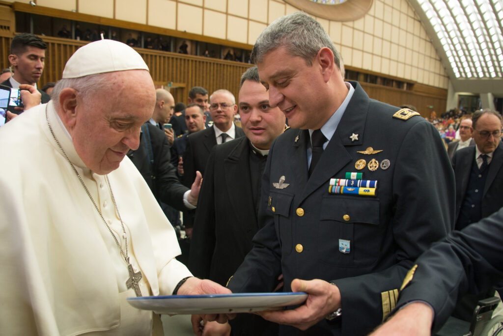
[[[9,61],[14,67],[14,74],[1,84],[14,89],[19,89],[21,84],[32,85],[36,88],[37,81],[44,70],[46,48],[45,42],[36,35],[21,33],[14,36],[11,42],[11,54],[9,55]],[[51,99],[45,92],[38,91],[42,95],[42,104]],[[22,111],[14,110],[14,107],[10,107],[9,111],[15,114],[22,113]]]

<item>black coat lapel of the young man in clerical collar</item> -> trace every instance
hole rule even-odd
[[[248,139],[234,147],[229,156],[224,160],[224,177],[227,191],[231,200],[234,213],[237,217],[246,218],[242,223],[257,223],[257,215],[251,195],[251,180],[249,168]],[[241,183],[237,183],[237,182]],[[240,185],[242,188],[237,188]],[[254,227],[255,228],[255,227]]]

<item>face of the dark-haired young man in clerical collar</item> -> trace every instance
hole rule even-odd
[[[255,147],[267,150],[285,129],[285,116],[269,105],[269,95],[261,83],[245,80],[239,90],[239,115],[246,137]]]

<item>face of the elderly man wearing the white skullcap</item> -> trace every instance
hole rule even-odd
[[[119,167],[129,149],[137,149],[141,125],[152,116],[155,89],[146,70],[110,74],[111,86],[82,100],[77,94],[76,120],[69,130],[78,156],[104,175]]]

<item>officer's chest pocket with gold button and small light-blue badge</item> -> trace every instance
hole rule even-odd
[[[379,258],[379,200],[325,196],[318,222],[318,258],[324,264],[366,267]]]

